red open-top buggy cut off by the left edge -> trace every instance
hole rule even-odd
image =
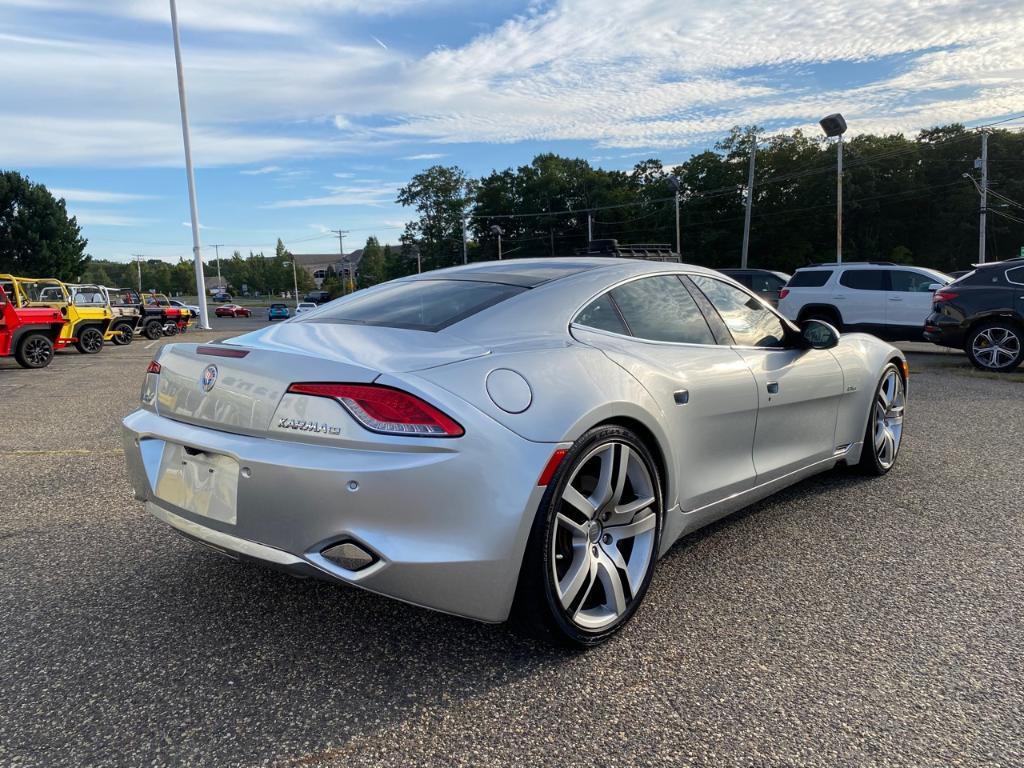
[[[59,309],[28,303],[17,280],[0,274],[0,357],[13,354],[22,368],[46,368],[54,348],[68,345],[60,340],[66,321]]]

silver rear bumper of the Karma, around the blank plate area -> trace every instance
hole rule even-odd
[[[553,450],[494,423],[486,441],[459,450],[380,451],[230,434],[150,411],[128,416],[123,437],[136,498],[185,536],[484,622],[508,616],[544,493],[537,478]],[[238,462],[233,522],[157,495],[164,452],[182,445]],[[349,570],[322,554],[344,542],[374,561]]]

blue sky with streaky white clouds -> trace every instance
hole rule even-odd
[[[268,6],[268,7],[263,7]],[[732,125],[851,133],[1024,111],[1008,0],[178,0],[204,252],[395,242],[395,190],[539,152],[681,162]],[[0,168],[89,252],[190,256],[166,0],[0,0]],[[224,248],[221,249],[224,253]]]

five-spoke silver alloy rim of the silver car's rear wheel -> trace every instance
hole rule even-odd
[[[555,595],[566,617],[588,631],[629,609],[654,557],[654,481],[628,444],[597,445],[571,469],[551,530]]]

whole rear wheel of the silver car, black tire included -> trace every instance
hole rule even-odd
[[[609,446],[609,476],[617,478],[621,471],[625,471],[627,480],[620,485],[617,496],[612,488],[618,481],[609,484],[611,496],[608,497],[607,504],[611,506],[598,505],[587,522],[586,515],[580,512],[581,508],[565,501],[563,496],[570,480],[582,483],[581,487],[584,488],[588,487],[591,480],[594,485],[597,484],[595,473],[604,461],[604,452]],[[624,454],[624,446],[629,449],[629,453]],[[625,469],[621,470],[624,457]],[[633,463],[634,458],[640,462],[646,474],[637,469],[639,465]],[[596,468],[594,462],[597,462]],[[594,488],[592,496],[597,493]],[[631,500],[629,496],[635,498]],[[609,519],[615,519],[616,513],[610,510],[614,509],[616,503],[628,507],[631,503],[641,503],[642,498],[650,498],[650,504],[638,508],[635,513],[627,512],[618,523],[609,522]],[[623,502],[623,499],[627,501]],[[588,509],[593,510],[593,507]],[[629,517],[630,514],[633,516]],[[568,517],[574,519],[568,520]],[[581,524],[579,520],[584,522]],[[571,527],[565,525],[565,521]],[[588,431],[572,444],[562,460],[534,519],[516,588],[512,610],[514,626],[532,637],[575,648],[597,645],[609,638],[630,621],[643,602],[657,559],[664,523],[665,502],[662,498],[660,474],[657,463],[643,441],[633,431],[617,426],[595,427]],[[618,538],[629,529],[640,527],[644,527],[641,532]],[[628,553],[625,546],[627,543]],[[624,546],[620,547],[620,544]],[[634,557],[641,558],[636,566]],[[568,558],[567,563],[564,558]],[[586,564],[588,562],[590,565]],[[609,567],[609,563],[613,567]],[[630,585],[628,570],[616,563],[625,563],[627,568],[635,571],[632,580],[634,586]],[[575,567],[578,565],[580,567]],[[562,569],[564,572],[559,575]],[[571,574],[582,573],[585,569],[589,571],[588,574],[581,575],[580,579],[584,581],[573,588],[571,585],[579,580],[572,579]],[[605,587],[615,577],[624,609],[611,609],[609,613],[607,604],[588,607],[601,599],[605,603],[615,602],[611,592]],[[565,582],[570,586],[560,596]],[[568,606],[563,605],[565,599],[569,601]],[[605,612],[603,617],[587,616],[586,621],[607,624],[583,626],[583,617],[587,613],[595,610],[600,613],[602,609]]]

